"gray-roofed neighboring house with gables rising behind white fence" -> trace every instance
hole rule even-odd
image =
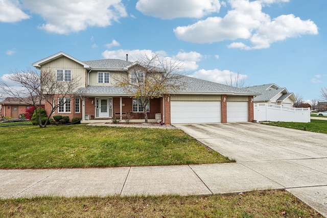
[[[288,92],[286,88],[281,88],[274,83],[250,86],[246,87],[246,89],[261,93],[261,95],[253,99],[254,103],[267,103],[286,107],[293,107],[294,103],[296,103],[295,95],[292,92]]]

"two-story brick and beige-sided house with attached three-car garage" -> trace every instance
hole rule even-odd
[[[53,70],[57,80],[70,81],[81,79],[82,96],[65,101],[55,114],[70,118],[110,119],[118,115],[121,119],[130,114],[132,119],[143,119],[143,108],[138,99],[130,98],[122,87],[115,86],[112,78],[130,78],[135,82],[130,68],[138,62],[118,59],[80,61],[63,52],[33,63],[37,69]],[[45,70],[46,69],[46,70]],[[162,119],[166,124],[177,123],[227,123],[252,122],[253,98],[260,95],[257,91],[236,88],[219,83],[183,77],[187,82],[184,90],[170,93],[165,98],[151,99],[148,118]],[[45,104],[49,113],[50,105]]]

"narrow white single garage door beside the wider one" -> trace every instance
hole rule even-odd
[[[227,123],[248,121],[247,102],[227,102]]]

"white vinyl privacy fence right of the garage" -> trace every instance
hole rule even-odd
[[[254,104],[254,119],[260,121],[280,121],[310,123],[310,108],[291,108],[267,103]]]

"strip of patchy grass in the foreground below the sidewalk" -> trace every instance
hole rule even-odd
[[[244,195],[0,200],[1,217],[323,217],[284,190]]]

